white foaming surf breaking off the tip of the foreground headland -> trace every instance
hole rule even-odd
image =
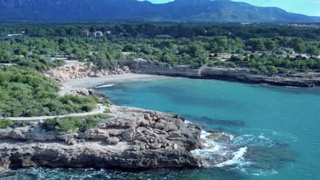
[[[278,172],[274,169],[261,168],[253,160],[250,160],[250,148],[254,146],[272,147],[275,142],[260,135],[245,134],[234,136],[226,132],[221,133],[228,140],[217,140],[210,132],[202,131],[202,149],[191,151],[194,155],[206,158],[207,168],[224,168],[226,170],[238,170],[246,175],[274,175]],[[209,161],[207,160],[209,159]]]

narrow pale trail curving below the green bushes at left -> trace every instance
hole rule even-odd
[[[39,121],[46,119],[54,119],[56,117],[84,117],[89,115],[96,115],[103,113],[107,106],[103,104],[98,104],[97,108],[92,110],[91,112],[83,112],[83,113],[72,113],[69,115],[59,115],[59,116],[43,116],[43,117],[8,117],[7,119],[11,119],[12,121]]]

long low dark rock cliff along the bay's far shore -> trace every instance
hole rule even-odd
[[[269,84],[291,87],[319,87],[320,73],[267,75],[254,74],[246,68],[226,67],[200,67],[191,68],[187,65],[171,67],[166,63],[155,63],[152,61],[124,61],[131,68],[131,72],[138,74],[158,74],[164,76],[185,76],[189,78],[212,78],[221,80],[235,80],[240,82]]]

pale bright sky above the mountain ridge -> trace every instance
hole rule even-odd
[[[142,0],[139,0],[142,1]],[[166,3],[173,0],[148,0],[152,3]],[[320,16],[320,0],[232,0],[252,5],[280,7],[288,12]]]

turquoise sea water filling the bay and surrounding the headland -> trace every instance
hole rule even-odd
[[[204,130],[226,132],[237,148],[209,141],[193,153],[232,158],[197,170],[29,168],[7,179],[320,179],[320,89],[165,78],[98,91],[116,105],[178,112]]]

